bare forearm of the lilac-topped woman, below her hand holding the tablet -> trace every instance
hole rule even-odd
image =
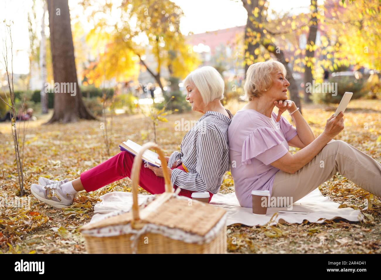
[[[323,149],[323,147],[325,147],[325,145],[327,145],[327,143],[331,140],[332,138],[328,136],[328,134],[323,132],[306,147],[304,147],[303,149],[293,154],[292,155],[293,171],[296,172],[300,168],[302,168],[304,165],[309,163],[312,160],[312,158],[314,158],[317,154],[319,154],[319,152]]]

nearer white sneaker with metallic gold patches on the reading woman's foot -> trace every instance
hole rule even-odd
[[[64,195],[61,190],[62,181],[58,181],[54,184],[41,186],[38,184],[32,184],[30,186],[30,192],[38,200],[51,205],[56,208],[65,208],[72,205],[74,195]]]

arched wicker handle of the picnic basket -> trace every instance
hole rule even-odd
[[[134,163],[132,165],[132,170],[131,170],[132,197],[133,197],[132,215],[133,215],[133,220],[135,221],[139,220],[138,183],[139,183],[142,155],[146,150],[151,148],[157,151],[157,153],[159,154],[160,161],[162,162],[164,181],[165,181],[165,192],[173,192],[171,179],[169,177],[168,167],[166,165],[166,160],[165,160],[162,149],[160,149],[160,147],[154,142],[148,142],[144,144],[140,152],[135,156]]]

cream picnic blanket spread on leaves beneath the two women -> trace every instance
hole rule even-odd
[[[138,195],[139,205],[143,203],[150,195]],[[123,213],[130,210],[132,206],[132,194],[130,192],[109,192],[99,197],[101,202],[94,205],[94,216],[91,222],[105,219],[115,214]],[[227,213],[226,225],[244,224],[247,226],[264,225],[279,223],[303,223],[304,220],[309,222],[322,223],[325,220],[346,219],[348,221],[362,221],[363,214],[360,210],[354,210],[350,207],[338,208],[339,203],[333,202],[328,196],[323,196],[318,188],[313,190],[305,197],[293,203],[292,211],[309,212],[307,214],[295,213],[279,213],[280,210],[287,210],[287,207],[270,207],[267,208],[267,214],[263,216],[253,215],[252,209],[239,205],[235,193],[231,194],[215,194],[213,195],[211,205],[224,208]],[[365,208],[367,209],[367,207]],[[364,209],[364,210],[365,210]],[[273,218],[273,214],[278,213]]]

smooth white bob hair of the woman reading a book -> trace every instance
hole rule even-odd
[[[189,73],[184,80],[184,87],[189,85],[196,86],[204,104],[208,104],[216,98],[224,98],[224,79],[214,67],[203,66]]]

